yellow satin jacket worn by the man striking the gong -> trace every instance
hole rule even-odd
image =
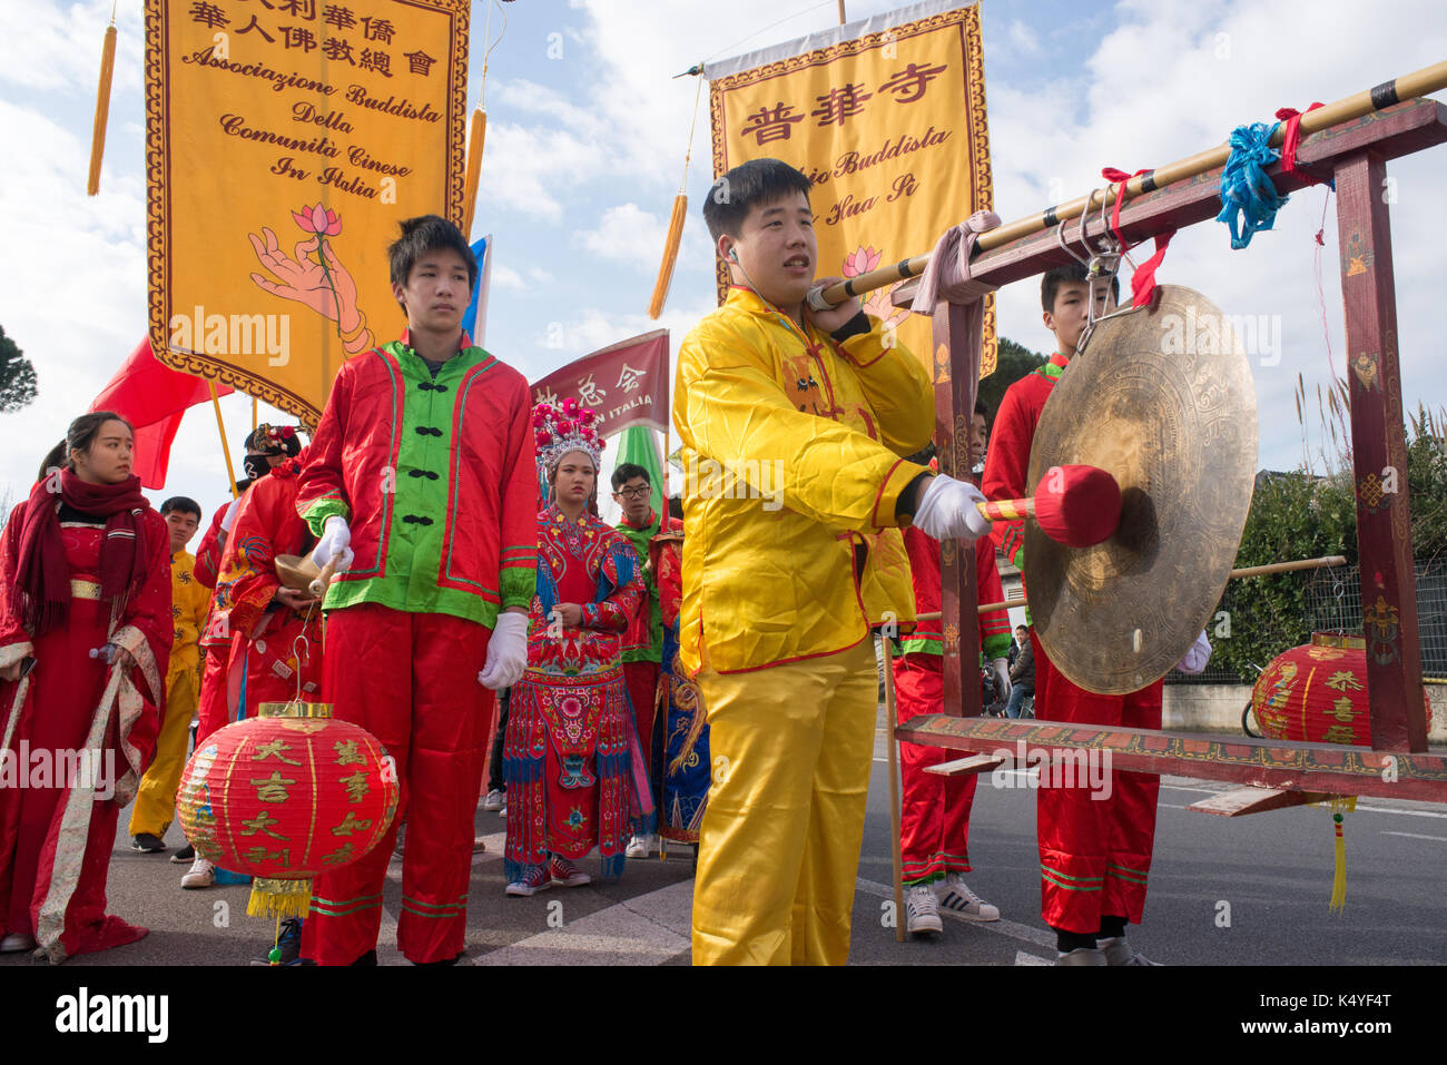
[[[719,673],[832,654],[870,622],[915,619],[894,518],[928,467],[900,456],[935,430],[929,375],[880,323],[835,343],[742,288],[684,339],[680,654]],[[857,574],[855,547],[865,548]],[[705,651],[706,648],[706,651]]]

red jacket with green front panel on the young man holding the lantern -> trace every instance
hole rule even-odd
[[[334,514],[356,559],[326,609],[381,603],[488,628],[537,585],[537,475],[521,373],[475,347],[434,378],[399,340],[346,363],[301,473],[297,512],[315,535]]]

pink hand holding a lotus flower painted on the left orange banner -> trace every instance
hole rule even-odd
[[[349,356],[372,347],[372,331],[366,328],[366,315],[357,308],[357,287],[350,271],[337,258],[326,237],[341,232],[341,216],[315,204],[291,213],[297,227],[310,233],[310,240],[301,240],[288,258],[276,240],[276,234],[262,226],[262,236],[247,233],[258,260],[281,278],[281,284],[260,273],[252,273],[252,281],[272,295],[295,300],[317,314],[337,324],[337,336]]]

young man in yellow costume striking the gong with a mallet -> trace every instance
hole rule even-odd
[[[713,787],[695,964],[844,964],[874,750],[870,622],[913,618],[899,528],[974,538],[972,485],[904,462],[935,427],[920,362],[849,300],[805,310],[809,179],[735,166],[703,205],[732,287],[679,352],[680,654]],[[828,284],[828,281],[823,281]]]

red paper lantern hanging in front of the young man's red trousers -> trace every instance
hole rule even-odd
[[[370,851],[396,813],[396,767],[370,732],[328,718],[250,718],[185,767],[177,810],[207,861],[305,880]]]

